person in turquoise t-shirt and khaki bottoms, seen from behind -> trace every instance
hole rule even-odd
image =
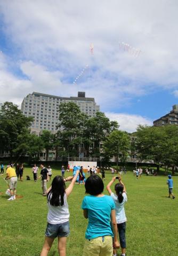
[[[84,217],[88,219],[83,256],[112,256],[112,229],[114,245],[119,248],[115,203],[110,196],[103,195],[104,184],[98,175],[91,175],[85,182],[86,194],[82,202]]]

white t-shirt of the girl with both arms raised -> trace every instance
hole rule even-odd
[[[127,202],[127,194],[123,192],[123,202],[119,203],[117,195],[114,193],[111,193],[111,197],[114,199],[115,206],[116,206],[116,222],[117,223],[123,223],[127,221],[125,210],[124,210],[124,204]]]

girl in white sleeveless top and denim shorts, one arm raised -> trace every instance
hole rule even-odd
[[[76,182],[79,171],[75,177],[63,178],[54,177],[51,187],[47,190],[47,227],[45,241],[41,256],[46,256],[51,249],[54,238],[58,236],[58,250],[60,256],[66,256],[66,243],[69,235],[69,209],[67,198],[70,195]],[[66,181],[71,183],[66,188]]]

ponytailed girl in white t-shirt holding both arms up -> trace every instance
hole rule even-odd
[[[115,185],[116,194],[112,193],[110,187],[112,183],[115,182],[116,177],[112,178],[112,180],[107,185],[107,190],[110,196],[114,199],[116,205],[116,221],[117,221],[117,229],[119,233],[120,246],[122,250],[122,256],[125,256],[126,253],[126,238],[125,238],[125,229],[126,229],[126,215],[124,210],[124,204],[127,202],[127,194],[124,183],[121,180],[121,177],[118,177],[119,183]],[[115,256],[117,256],[116,249],[113,250]]]

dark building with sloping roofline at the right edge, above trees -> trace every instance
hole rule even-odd
[[[154,126],[162,126],[166,124],[178,125],[178,105],[174,105],[173,110],[171,110],[170,113],[153,121]]]

